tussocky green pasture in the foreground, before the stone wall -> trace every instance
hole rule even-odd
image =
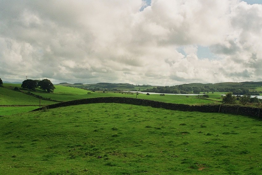
[[[260,120],[128,104],[0,117],[1,174],[260,174]]]

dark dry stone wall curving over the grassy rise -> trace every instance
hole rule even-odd
[[[227,114],[239,114],[239,115],[259,117],[259,118],[262,117],[261,108],[255,108],[255,107],[243,107],[243,106],[225,105],[225,104],[191,106],[187,104],[164,103],[164,102],[158,102],[153,100],[126,98],[126,97],[86,98],[86,99],[56,103],[46,107],[35,109],[33,111],[42,110],[43,108],[52,109],[57,107],[66,107],[66,106],[90,104],[90,103],[124,103],[124,104],[164,108],[169,110],[178,110],[178,111],[221,112]]]

